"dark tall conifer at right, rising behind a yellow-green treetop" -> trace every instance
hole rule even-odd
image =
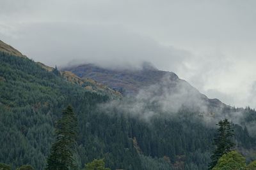
[[[230,152],[231,148],[234,146],[232,142],[232,137],[234,136],[234,130],[232,129],[230,122],[227,118],[220,120],[217,124],[219,126],[218,133],[214,138],[214,145],[216,145],[216,150],[211,156],[211,163],[209,169],[212,169],[218,162],[218,159],[225,154]]]

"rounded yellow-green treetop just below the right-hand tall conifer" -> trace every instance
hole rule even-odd
[[[225,153],[212,170],[243,170],[246,169],[245,158],[238,152]]]

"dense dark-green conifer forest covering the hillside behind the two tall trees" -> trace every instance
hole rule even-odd
[[[68,82],[56,69],[47,71],[33,60],[0,52],[0,162],[13,169],[24,164],[45,169],[54,127],[70,104],[77,115],[74,157],[79,169],[95,159],[104,159],[110,169],[208,168],[216,129],[193,112],[180,110],[176,117],[161,113],[144,121],[98,107],[110,100]],[[234,143],[248,162],[254,160],[256,140],[246,124],[255,122],[256,112],[225,111],[243,111],[242,124],[232,124]]]

